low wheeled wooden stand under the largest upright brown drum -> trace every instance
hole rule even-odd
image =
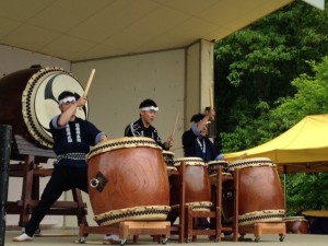
[[[115,234],[118,235],[120,245],[125,245],[128,236],[132,235],[138,241],[139,235],[161,236],[162,244],[166,244],[171,235],[171,223],[168,221],[122,221],[113,226],[86,226],[80,225],[80,244],[84,244],[89,234]]]

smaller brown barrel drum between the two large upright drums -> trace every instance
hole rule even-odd
[[[200,157],[183,157],[176,159],[174,166],[180,171],[183,163],[186,172],[186,203],[192,206],[194,210],[209,211],[212,206],[211,184],[206,163]],[[179,189],[173,186],[171,189],[171,204],[173,209],[179,207]]]

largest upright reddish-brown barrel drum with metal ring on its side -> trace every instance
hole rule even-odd
[[[109,140],[93,148],[87,160],[89,194],[98,225],[166,220],[168,177],[153,139]]]

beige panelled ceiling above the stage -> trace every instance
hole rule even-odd
[[[0,0],[0,44],[69,61],[220,39],[293,0]]]

